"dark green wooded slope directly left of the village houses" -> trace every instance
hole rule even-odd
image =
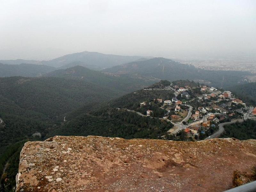
[[[126,94],[118,99],[94,106],[92,111],[77,110],[67,114],[70,120],[49,132],[53,135],[101,135],[123,138],[159,138],[166,133],[172,124],[158,118],[142,117],[123,108],[139,108],[142,101],[149,102],[155,98],[171,99],[170,90],[139,90]],[[120,108],[119,110],[117,108]],[[81,113],[84,111],[83,113]]]

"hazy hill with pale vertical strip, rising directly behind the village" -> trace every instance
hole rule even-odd
[[[244,81],[244,76],[250,75],[249,72],[241,71],[204,70],[165,58],[134,61],[124,65],[107,68],[103,71],[116,75],[128,74],[133,76],[153,76],[158,79],[167,79],[170,81],[180,79],[200,79],[211,82],[211,85],[217,87],[241,84]]]

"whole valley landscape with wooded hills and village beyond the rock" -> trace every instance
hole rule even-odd
[[[28,140],[55,135],[208,140],[232,134],[224,125],[255,118],[254,83],[245,80],[249,72],[198,70],[164,58],[97,70],[84,66],[8,64],[19,73],[5,71],[2,76],[11,77],[0,78],[2,188],[14,185],[19,152]],[[253,130],[248,137],[254,138]]]

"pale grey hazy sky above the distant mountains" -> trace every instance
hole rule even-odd
[[[256,1],[0,0],[0,59],[256,53]]]

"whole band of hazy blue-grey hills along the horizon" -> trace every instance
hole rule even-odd
[[[13,60],[13,63],[17,63],[18,61],[25,62],[24,60]],[[11,61],[8,60],[8,62],[10,63]],[[138,83],[139,79],[145,80],[150,78],[152,83],[161,79],[169,81],[188,79],[219,88],[244,84],[248,82],[247,76],[255,76],[250,72],[244,71],[205,70],[196,68],[193,65],[182,64],[165,58],[119,56],[98,52],[73,53],[49,61],[38,62],[32,60],[31,62],[43,64],[46,67],[41,66],[41,72],[39,69],[36,69],[35,66],[33,66],[33,68],[32,66],[31,68],[26,68],[23,65],[20,65],[13,69],[16,73],[11,73],[12,70],[2,68],[2,76],[41,76],[54,71],[54,69],[67,69],[79,65],[93,70],[101,70],[105,74],[108,74],[108,76],[119,76],[123,79],[127,78],[127,81],[129,80],[133,83]],[[4,63],[3,60],[2,63]],[[3,65],[1,66],[3,67]],[[52,68],[47,68],[49,66],[52,66]],[[21,71],[21,73],[18,73],[19,71]],[[96,73],[94,74],[97,75]],[[98,75],[102,77],[102,74]],[[87,80],[89,80],[89,78],[87,78]]]

